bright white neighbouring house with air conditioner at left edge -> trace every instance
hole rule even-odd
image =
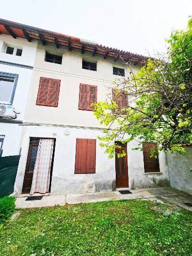
[[[19,155],[22,121],[37,42],[7,35],[0,23],[0,151],[2,156]],[[18,114],[15,114],[18,113]],[[10,117],[11,116],[11,117]]]

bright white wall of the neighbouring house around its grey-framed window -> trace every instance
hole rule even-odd
[[[22,55],[6,54],[6,45],[19,47],[22,49]],[[9,35],[0,35],[0,74],[14,74],[18,77],[11,105],[19,113],[15,119],[0,119],[0,135],[4,136],[2,156],[18,155],[20,153],[22,121],[33,73],[36,46],[36,42],[29,43],[22,38],[14,39]]]

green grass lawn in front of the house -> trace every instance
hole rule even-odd
[[[21,210],[0,230],[0,255],[192,255],[192,214],[163,217],[150,201]]]

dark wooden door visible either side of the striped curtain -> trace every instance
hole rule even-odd
[[[27,164],[26,164],[26,170],[25,170],[25,177],[23,180],[23,187],[22,187],[23,194],[29,194],[30,190],[31,190],[35,162],[36,162],[36,158],[37,158],[37,151],[38,151],[40,139],[41,138],[31,138],[30,139],[28,156],[27,156]],[[52,178],[53,161],[54,161],[54,148],[55,148],[55,139],[54,139],[54,144],[53,144],[53,155],[52,155],[52,162],[51,162],[49,192],[51,189],[51,178]]]

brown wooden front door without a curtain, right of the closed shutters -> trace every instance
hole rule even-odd
[[[118,158],[117,154],[121,154],[123,150],[125,151],[126,156]],[[116,170],[116,187],[117,188],[129,187],[126,145],[121,145],[121,148],[118,148],[115,150],[115,170]]]

